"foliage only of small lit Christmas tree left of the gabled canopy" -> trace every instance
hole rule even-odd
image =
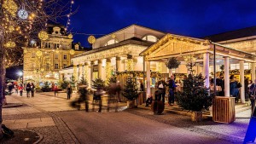
[[[135,83],[135,79],[129,76],[126,80],[125,88],[122,93],[125,98],[127,98],[129,101],[132,101],[137,98],[137,84]]]

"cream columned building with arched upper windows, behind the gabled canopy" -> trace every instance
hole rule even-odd
[[[61,78],[69,80],[74,76],[79,80],[84,76],[90,84],[94,78],[108,80],[113,72],[143,72],[143,56],[139,54],[165,35],[165,32],[131,25],[96,38],[92,50],[75,55],[73,66],[60,71]],[[152,65],[154,71],[166,69],[163,64]]]

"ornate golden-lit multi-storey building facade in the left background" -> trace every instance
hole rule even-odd
[[[71,65],[73,55],[83,48],[73,43],[73,35],[66,33],[63,26],[48,26],[48,38],[40,45],[32,40],[24,47],[23,80],[26,82],[57,82],[59,71]]]

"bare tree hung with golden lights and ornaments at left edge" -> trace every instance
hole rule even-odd
[[[69,20],[74,11],[71,9],[73,0],[68,1],[0,0],[0,124],[3,122],[5,68],[22,64],[21,47],[28,46],[32,39],[39,42],[38,32],[44,30],[47,23]]]

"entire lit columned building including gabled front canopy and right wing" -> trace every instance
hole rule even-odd
[[[195,73],[202,73],[207,78],[207,87],[210,86],[209,77],[214,64],[217,72],[220,71],[220,66],[224,65],[225,96],[230,96],[230,74],[239,69],[241,102],[244,102],[244,76],[247,75],[245,69],[252,67],[249,77],[255,78],[256,36],[253,33],[256,33],[255,27],[195,38],[132,25],[97,38],[92,50],[75,55],[72,59],[73,65],[61,70],[60,74],[61,78],[67,80],[71,76],[76,80],[84,76],[91,83],[94,78],[106,80],[113,72],[141,72],[141,75],[138,75],[142,77],[147,95],[154,95],[153,87],[157,78],[167,78],[172,72],[188,74],[186,64],[192,60],[197,63],[193,67]],[[171,57],[181,61],[177,69],[166,68],[166,61]],[[155,72],[158,75],[155,75]]]

